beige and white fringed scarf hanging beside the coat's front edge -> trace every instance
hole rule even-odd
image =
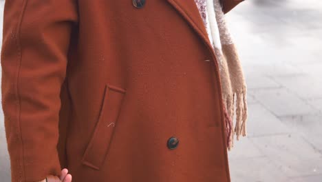
[[[233,148],[234,136],[246,136],[246,82],[239,56],[226,26],[219,0],[195,0],[215,49],[222,83],[226,114],[227,148]],[[233,119],[235,117],[235,125]]]

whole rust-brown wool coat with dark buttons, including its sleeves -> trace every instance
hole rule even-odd
[[[7,0],[3,20],[12,181],[61,168],[76,182],[230,181],[218,66],[194,0]]]

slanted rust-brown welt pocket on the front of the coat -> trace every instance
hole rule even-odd
[[[83,155],[83,164],[100,170],[109,150],[124,96],[125,90],[122,88],[105,85],[98,121]]]

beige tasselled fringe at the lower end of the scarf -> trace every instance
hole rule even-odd
[[[228,95],[224,99],[225,123],[226,123],[226,142],[228,150],[234,147],[234,137],[236,135],[237,141],[240,136],[247,136],[247,102],[246,102],[246,88]],[[235,124],[233,119],[235,117]]]

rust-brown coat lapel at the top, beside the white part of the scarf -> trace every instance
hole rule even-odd
[[[168,1],[175,10],[177,10],[182,17],[189,23],[198,36],[206,43],[206,46],[211,50],[213,55],[215,54],[211,42],[208,39],[208,34],[206,28],[204,27],[204,22],[200,16],[200,12],[195,4],[195,0],[166,0]]]

